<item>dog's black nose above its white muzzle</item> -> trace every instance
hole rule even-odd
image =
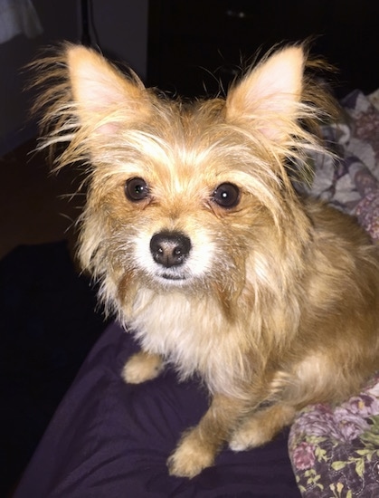
[[[150,251],[156,263],[171,268],[185,262],[191,251],[191,241],[179,232],[160,232],[151,237]]]

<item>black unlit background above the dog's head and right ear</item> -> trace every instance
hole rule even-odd
[[[151,0],[148,83],[185,95],[214,93],[241,62],[275,43],[312,39],[336,65],[338,94],[378,86],[379,4],[370,0]],[[214,77],[215,76],[215,77]]]

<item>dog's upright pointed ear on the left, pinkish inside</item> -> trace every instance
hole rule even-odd
[[[69,46],[66,60],[81,125],[95,129],[98,123],[98,131],[107,134],[115,130],[118,119],[143,119],[148,98],[137,76],[128,79],[102,55],[81,45]]]

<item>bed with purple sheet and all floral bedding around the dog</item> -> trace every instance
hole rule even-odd
[[[379,92],[341,102],[346,120],[326,126],[340,160],[311,158],[301,189],[356,215],[379,240]],[[120,370],[137,349],[113,323],[103,333],[26,469],[14,498],[379,496],[379,375],[338,407],[305,408],[269,445],[233,454],[192,480],[169,476],[166,458],[207,407],[197,379],[167,370],[139,386]]]

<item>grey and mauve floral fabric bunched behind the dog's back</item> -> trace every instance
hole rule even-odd
[[[342,102],[346,123],[326,126],[324,136],[339,159],[312,158],[314,178],[308,194],[355,215],[379,241],[379,94],[369,99],[354,91]]]

